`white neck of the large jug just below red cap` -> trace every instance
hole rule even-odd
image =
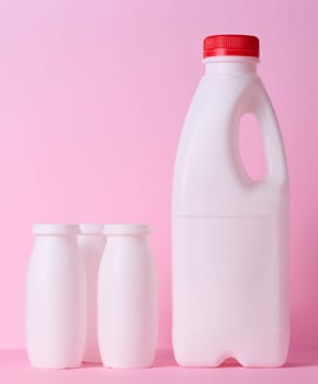
[[[214,56],[203,60],[206,75],[255,75],[259,59],[249,56]]]

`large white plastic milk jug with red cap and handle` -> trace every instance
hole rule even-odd
[[[288,180],[280,127],[257,74],[259,41],[204,41],[205,75],[179,143],[173,185],[173,349],[181,365],[286,360]],[[254,114],[268,174],[249,178],[238,148]]]

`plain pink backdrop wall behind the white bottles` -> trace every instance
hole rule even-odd
[[[291,172],[291,347],[318,349],[317,4],[0,3],[0,348],[24,347],[32,224],[114,221],[154,227],[159,346],[169,347],[172,167],[202,38],[247,33],[261,38]]]

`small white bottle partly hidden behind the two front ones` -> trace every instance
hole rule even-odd
[[[106,237],[102,224],[81,224],[78,236],[87,274],[87,341],[83,361],[100,362],[98,341],[98,276]]]

